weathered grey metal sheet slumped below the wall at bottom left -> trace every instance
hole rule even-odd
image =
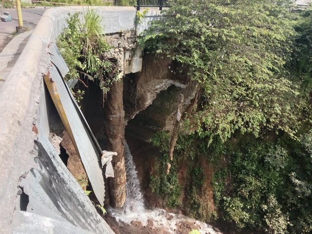
[[[27,212],[40,215],[40,219],[52,218],[50,228],[64,225],[78,227],[78,233],[113,234],[108,224],[98,215],[89,197],[67,170],[48,138],[40,134],[37,136],[35,148],[38,153],[38,169],[31,169],[19,184],[28,195]],[[14,220],[13,233],[22,229],[23,223],[26,226],[36,226],[37,221],[33,220],[33,224],[29,224],[27,221],[20,223]],[[42,228],[44,232],[47,231]],[[40,230],[39,227],[37,229]],[[71,232],[64,230],[61,233]]]

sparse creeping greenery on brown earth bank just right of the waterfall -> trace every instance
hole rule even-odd
[[[224,146],[214,148],[213,145],[207,149],[207,142],[196,139],[196,135],[179,136],[176,142],[173,161],[169,160],[170,134],[166,132],[156,133],[151,138],[151,143],[158,147],[161,156],[156,160],[154,173],[151,176],[150,187],[153,193],[159,195],[166,206],[170,208],[179,207],[197,219],[212,221],[216,213],[208,203],[200,201],[200,195],[206,194],[203,188],[207,179],[200,160],[209,159],[214,161],[220,152],[224,152]],[[211,153],[211,152],[214,153]],[[167,165],[171,164],[168,174]],[[187,186],[181,185],[178,175],[181,175],[181,164],[187,164],[187,171],[182,173]]]

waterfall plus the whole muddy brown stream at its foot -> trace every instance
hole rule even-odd
[[[116,218],[118,226],[124,224],[127,228],[122,234],[188,234],[192,229],[197,229],[201,234],[220,234],[206,223],[181,214],[168,213],[162,209],[148,210],[144,206],[143,195],[140,192],[140,182],[137,177],[136,166],[127,143],[125,143],[125,162],[127,169],[126,203],[123,208],[109,208],[108,212]]]

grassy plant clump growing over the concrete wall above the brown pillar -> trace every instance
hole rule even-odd
[[[111,46],[103,36],[101,20],[94,10],[70,15],[66,20],[68,27],[59,36],[58,47],[69,68],[67,79],[77,78],[84,85],[86,78],[98,82],[106,94],[117,80],[117,67],[105,56]]]

